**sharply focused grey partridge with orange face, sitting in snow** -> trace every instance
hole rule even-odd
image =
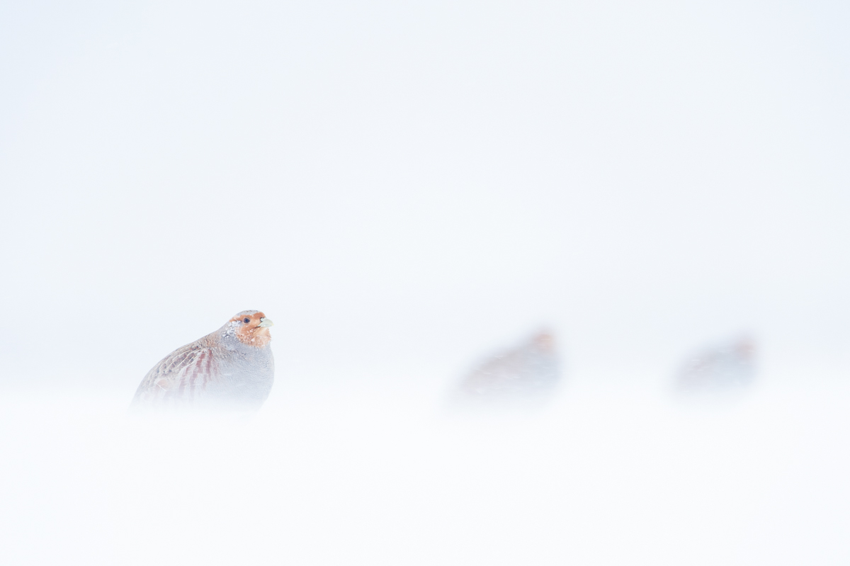
[[[258,410],[275,381],[273,324],[258,310],[243,310],[174,350],[144,376],[133,406]]]

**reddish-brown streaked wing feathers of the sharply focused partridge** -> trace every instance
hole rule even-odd
[[[212,348],[190,344],[173,351],[144,376],[133,404],[171,405],[203,394],[217,371]]]

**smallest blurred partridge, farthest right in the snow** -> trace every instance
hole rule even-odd
[[[755,357],[756,346],[751,337],[704,348],[687,359],[677,372],[676,388],[700,392],[749,385],[756,376]]]

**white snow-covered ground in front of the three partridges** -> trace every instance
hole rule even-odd
[[[850,389],[432,401],[300,392],[230,422],[3,395],[0,562],[850,561]]]

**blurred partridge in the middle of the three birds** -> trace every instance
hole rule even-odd
[[[466,399],[545,397],[560,379],[553,335],[540,331],[519,346],[487,359],[465,376],[459,392]]]

